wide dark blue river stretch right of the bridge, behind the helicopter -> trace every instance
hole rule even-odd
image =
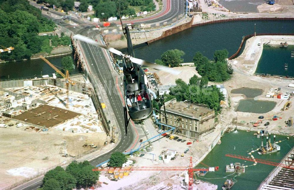
[[[294,21],[234,21],[193,27],[183,32],[152,42],[150,46],[135,50],[135,56],[154,62],[169,49],[180,49],[186,54],[184,62],[192,62],[199,51],[209,59],[215,50],[227,49],[229,57],[237,52],[242,37],[257,33],[294,33]]]

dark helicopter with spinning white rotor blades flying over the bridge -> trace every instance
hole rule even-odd
[[[123,26],[122,22],[121,25]],[[76,34],[74,39],[78,39],[104,49],[109,52],[117,54],[122,57],[123,60],[123,92],[124,102],[123,107],[125,131],[127,135],[128,123],[133,120],[135,123],[143,121],[150,117],[153,113],[152,97],[158,101],[155,92],[151,90],[151,86],[148,82],[148,78],[141,68],[141,66],[153,67],[157,70],[164,70],[174,75],[178,75],[179,72],[163,65],[157,65],[156,63],[150,63],[145,60],[141,60],[134,57],[133,44],[130,37],[129,27],[123,28],[123,34],[127,39],[127,51],[128,54],[123,54],[121,51],[108,47],[95,42],[93,39]],[[129,118],[128,118],[129,115]]]

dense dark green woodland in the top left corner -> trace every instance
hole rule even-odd
[[[38,33],[53,31],[55,24],[27,0],[2,0],[0,5],[0,45],[15,48],[11,53],[1,53],[0,59],[29,59],[39,53],[42,38]]]

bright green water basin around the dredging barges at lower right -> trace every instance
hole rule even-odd
[[[219,166],[219,171],[208,172],[203,176],[204,178],[197,177],[197,179],[217,184],[218,189],[221,189],[226,179],[233,179],[235,176],[234,181],[236,182],[232,189],[257,189],[259,184],[273,170],[274,166],[261,163],[258,163],[255,166],[250,166],[253,162],[225,156],[225,154],[249,156],[247,153],[253,149],[257,149],[261,144],[261,138],[257,138],[253,133],[254,132],[246,132],[243,130],[225,133],[221,138],[221,144],[216,145],[203,161],[201,161],[208,166]],[[286,136],[276,135],[276,141],[284,140],[285,138]],[[271,135],[271,140],[271,142],[273,142],[273,135]],[[286,153],[290,151],[291,147],[294,146],[294,138],[292,137],[289,140],[283,141],[279,145],[281,146],[281,150],[278,152],[264,155],[258,155],[257,152],[255,152],[253,153],[253,156],[258,159],[280,162]],[[235,162],[249,166],[245,168],[244,174],[236,176],[236,174],[225,172],[225,166]],[[196,167],[206,167],[205,165],[200,163]],[[228,176],[229,174],[233,175]],[[223,178],[225,176],[227,177]]]

